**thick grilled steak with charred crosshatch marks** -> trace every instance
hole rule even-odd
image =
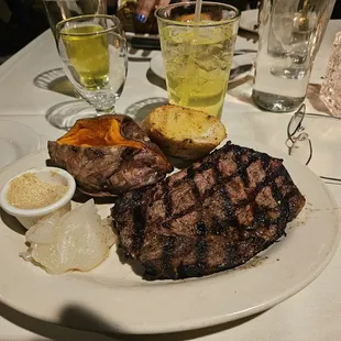
[[[227,143],[112,208],[125,256],[145,278],[204,276],[235,267],[285,233],[305,205],[283,161]]]

